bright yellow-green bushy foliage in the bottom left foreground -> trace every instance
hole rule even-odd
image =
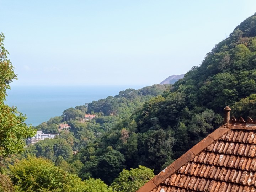
[[[17,191],[83,191],[84,183],[73,174],[54,166],[44,158],[28,157],[10,166]]]

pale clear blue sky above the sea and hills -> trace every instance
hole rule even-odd
[[[0,0],[13,85],[152,85],[200,65],[255,0]]]

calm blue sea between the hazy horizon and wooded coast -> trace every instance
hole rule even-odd
[[[115,96],[127,88],[140,89],[143,85],[118,86],[11,86],[6,104],[16,106],[26,114],[26,123],[37,126],[51,117],[61,116],[65,109],[75,108],[108,96]]]

